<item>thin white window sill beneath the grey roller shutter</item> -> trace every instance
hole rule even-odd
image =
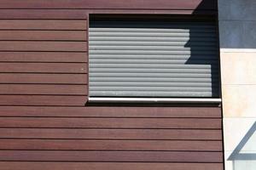
[[[90,102],[138,102],[138,103],[220,103],[221,99],[200,98],[89,98]]]

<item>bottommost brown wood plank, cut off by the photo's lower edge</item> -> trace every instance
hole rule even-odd
[[[222,163],[0,161],[0,170],[223,170]]]

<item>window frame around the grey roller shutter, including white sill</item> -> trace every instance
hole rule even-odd
[[[159,14],[111,14],[111,13],[88,13],[87,14],[87,48],[88,48],[88,52],[87,52],[87,72],[88,72],[88,76],[87,76],[87,91],[88,91],[88,101],[91,103],[189,103],[189,104],[221,104],[222,103],[222,91],[221,91],[221,67],[220,67],[220,50],[219,50],[219,33],[218,33],[218,15],[215,16],[215,23],[216,23],[216,29],[217,29],[217,38],[218,38],[218,87],[219,87],[219,96],[218,98],[207,98],[207,97],[90,97],[90,85],[89,85],[89,28],[90,28],[90,15],[94,15],[94,14],[100,14],[100,15],[105,15],[107,18],[109,16],[119,16],[120,18],[124,18],[126,16],[128,16],[127,18],[129,18],[129,15],[136,15],[136,16],[147,16],[150,15],[150,17],[159,17]],[[183,15],[183,14],[164,14],[163,16],[166,17],[181,17],[181,16],[188,16],[188,15]],[[208,18],[208,15],[201,15],[200,17],[206,17]],[[211,16],[210,16],[211,17]]]

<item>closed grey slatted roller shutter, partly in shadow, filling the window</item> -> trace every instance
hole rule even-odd
[[[90,97],[219,96],[212,20],[90,18]]]

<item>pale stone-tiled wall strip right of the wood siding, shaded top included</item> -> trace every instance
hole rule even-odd
[[[226,170],[256,169],[255,16],[255,0],[218,0]]]

